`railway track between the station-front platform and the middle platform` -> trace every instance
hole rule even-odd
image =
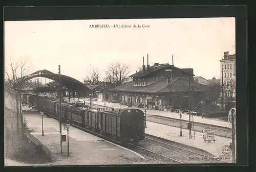
[[[180,119],[151,115],[151,116],[147,116],[146,120],[155,122],[158,124],[167,125],[167,126],[180,127]],[[186,120],[182,120],[182,128],[183,129],[187,128],[187,122],[188,121],[186,121]],[[202,132],[202,130],[204,128],[211,128],[212,131],[215,132],[216,136],[231,138],[231,129],[229,129],[229,128],[214,126],[214,125],[207,125],[207,124],[202,124],[199,122],[194,122],[194,127],[195,127],[195,131],[197,131],[197,132]]]

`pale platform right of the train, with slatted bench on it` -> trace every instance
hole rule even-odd
[[[154,122],[147,122],[147,128],[145,128],[145,133],[154,135],[157,137],[162,137],[167,140],[176,141],[182,144],[193,146],[202,150],[209,152],[216,157],[230,157],[230,160],[225,160],[231,162],[232,153],[228,156],[224,156],[221,149],[224,145],[229,145],[231,139],[215,136],[216,142],[204,142],[203,135],[201,132],[195,132],[196,138],[189,139],[189,130],[182,129],[182,137],[180,136],[180,128],[170,127],[166,125],[156,124]]]

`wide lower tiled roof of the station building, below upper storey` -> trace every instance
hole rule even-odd
[[[167,80],[160,80],[147,86],[134,86],[133,81],[122,85],[119,85],[110,90],[112,91],[127,91],[127,92],[174,92],[174,91],[188,91],[189,81],[183,78],[174,78],[170,80],[169,84]],[[195,82],[190,82],[191,90],[203,91],[208,87]]]

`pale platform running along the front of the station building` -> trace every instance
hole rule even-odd
[[[82,99],[80,99],[81,101]],[[86,101],[87,99],[84,99],[84,101]],[[78,101],[75,100],[75,101]],[[90,101],[86,101],[87,103],[90,103]],[[104,102],[100,102],[100,101],[94,101],[93,104],[97,104],[97,105],[103,105],[104,106]],[[106,106],[109,107],[113,107],[113,108],[119,108],[120,109],[120,105],[118,103],[105,103]],[[128,106],[126,105],[122,105],[122,108],[128,108]],[[142,111],[144,111],[144,108],[138,108],[141,109]],[[176,112],[169,112],[169,111],[159,111],[159,110],[152,110],[152,109],[147,109],[146,110],[146,114],[147,115],[159,115],[159,116],[166,116],[166,117],[170,117],[170,118],[176,118],[176,119],[180,119],[180,114],[176,113]],[[182,113],[183,119],[184,120],[189,120],[189,115],[186,113]],[[202,118],[201,116],[193,116],[194,117],[194,121],[195,122],[200,122],[203,124],[210,124],[210,125],[215,125],[215,126],[221,126],[221,127],[228,127],[230,128],[230,125],[228,124],[228,122],[219,120],[219,119],[215,119],[215,118]]]

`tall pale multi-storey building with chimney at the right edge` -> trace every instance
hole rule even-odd
[[[228,52],[224,52],[224,58],[220,62],[223,97],[236,97],[236,54],[229,55]]]

